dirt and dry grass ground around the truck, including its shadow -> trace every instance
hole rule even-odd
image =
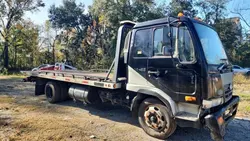
[[[50,104],[34,96],[34,84],[0,77],[0,140],[3,141],[153,141],[128,109],[66,101]],[[177,128],[168,140],[211,140],[205,129]],[[226,141],[250,140],[250,120],[237,118],[227,127]]]

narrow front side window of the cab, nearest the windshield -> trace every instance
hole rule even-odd
[[[194,45],[186,26],[179,27],[177,46],[180,62],[188,63],[195,60]]]

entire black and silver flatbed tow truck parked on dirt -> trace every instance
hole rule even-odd
[[[185,16],[142,23],[122,21],[109,70],[35,71],[35,95],[50,103],[72,98],[84,104],[129,107],[143,130],[159,139],[176,126],[208,128],[223,140],[235,117],[232,65],[217,32]]]

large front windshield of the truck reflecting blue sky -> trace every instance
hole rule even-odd
[[[202,24],[194,23],[194,26],[200,38],[207,63],[221,64],[227,60],[227,55],[217,32]]]

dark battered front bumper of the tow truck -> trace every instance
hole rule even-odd
[[[225,135],[225,127],[235,117],[239,101],[239,96],[233,96],[215,112],[205,116],[205,124],[211,133],[221,137]]]

